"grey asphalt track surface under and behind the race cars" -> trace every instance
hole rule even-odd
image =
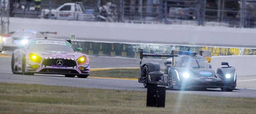
[[[145,59],[152,61],[152,59]],[[162,59],[154,59],[154,61],[164,62]],[[139,60],[134,58],[123,57],[90,57],[92,68],[107,68],[107,67],[138,67]],[[63,75],[19,75],[12,74],[11,57],[0,57],[0,82],[7,83],[25,83],[25,84],[44,84],[58,86],[72,86],[83,88],[100,88],[100,89],[115,89],[115,90],[137,90],[147,91],[143,84],[138,81],[121,80],[121,79],[105,79],[105,78],[68,78]],[[239,88],[240,89],[240,88]],[[256,97],[255,89],[240,89],[233,92],[222,92],[220,89],[207,89],[206,91],[177,91],[167,90],[170,93],[178,94],[198,94],[220,97]]]

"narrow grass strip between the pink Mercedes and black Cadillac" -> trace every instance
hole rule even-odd
[[[90,76],[115,77],[115,78],[139,78],[140,69],[111,69],[91,71]]]

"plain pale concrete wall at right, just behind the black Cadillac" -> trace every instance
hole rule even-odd
[[[255,76],[256,75],[256,56],[213,56],[212,68],[216,71],[218,67],[223,67],[221,62],[228,62],[230,66],[236,68],[237,76]]]

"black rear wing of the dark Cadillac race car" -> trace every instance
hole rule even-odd
[[[140,49],[140,64],[141,64],[141,61],[143,59],[143,57],[172,57],[172,61],[173,61],[173,57],[178,57],[178,54],[173,54],[173,51],[172,50],[172,53],[143,53],[143,49]]]

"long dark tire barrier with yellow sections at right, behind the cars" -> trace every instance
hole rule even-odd
[[[72,40],[74,48],[82,48],[83,53],[95,56],[121,56],[139,58],[140,49],[145,53],[171,53],[172,50],[191,51],[199,53],[200,50],[211,50],[212,56],[230,55],[256,55],[256,48],[236,47],[208,47],[194,45],[172,45],[172,44],[145,44],[145,43],[115,43]]]

